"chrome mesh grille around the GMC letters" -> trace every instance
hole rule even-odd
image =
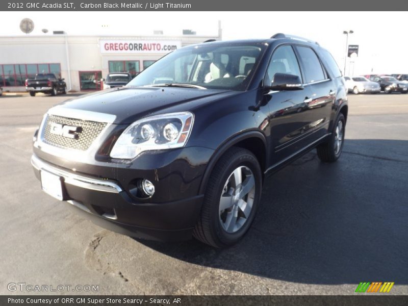
[[[63,125],[80,126],[82,131],[78,134],[77,139],[52,134],[50,133],[50,126],[54,122]],[[48,115],[44,127],[44,142],[61,148],[87,150],[106,125],[107,123]]]

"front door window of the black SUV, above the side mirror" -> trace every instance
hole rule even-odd
[[[302,79],[297,58],[291,46],[278,47],[272,55],[266,71],[264,84],[270,85],[275,73],[298,75]]]

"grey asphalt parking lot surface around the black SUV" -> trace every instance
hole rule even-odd
[[[408,294],[408,95],[349,95],[343,154],[315,151],[270,177],[243,241],[134,240],[44,194],[30,165],[43,113],[72,95],[0,97],[0,294],[9,283],[99,285],[53,294]],[[42,292],[47,294],[47,292]]]

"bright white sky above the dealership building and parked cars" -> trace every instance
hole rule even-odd
[[[191,29],[197,35],[218,33],[222,39],[269,38],[275,33],[302,36],[326,49],[341,70],[346,55],[346,35],[354,31],[348,44],[358,44],[359,56],[347,58],[346,74],[408,73],[405,29],[399,28],[407,12],[2,12],[0,36],[26,35],[19,29],[20,20],[34,21],[29,35],[52,35],[63,30],[68,35],[181,35]],[[48,34],[43,34],[47,29]]]

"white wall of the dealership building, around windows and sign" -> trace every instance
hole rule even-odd
[[[59,63],[61,65],[61,77],[65,79],[68,88],[71,87],[71,90],[79,91],[80,71],[100,70],[105,78],[109,72],[109,61],[139,61],[140,71],[142,71],[144,60],[158,60],[166,55],[166,53],[101,53],[100,40],[173,40],[181,42],[182,46],[186,46],[208,39],[220,40],[220,35],[221,31],[219,31],[219,36],[3,36],[0,37],[0,64]],[[70,73],[68,73],[66,44],[68,45]],[[2,71],[0,71],[0,75],[1,73]],[[25,87],[7,86],[4,87],[4,90],[25,91]]]

